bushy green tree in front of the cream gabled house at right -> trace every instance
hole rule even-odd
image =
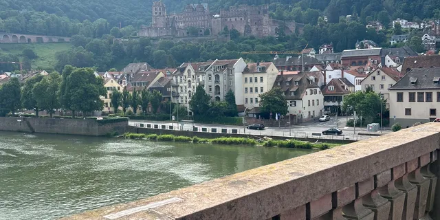
[[[385,101],[374,91],[357,91],[344,97],[342,111],[353,109],[358,115],[362,115],[366,124],[373,122],[380,113],[380,108],[386,109]]]

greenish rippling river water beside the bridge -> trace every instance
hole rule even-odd
[[[0,219],[56,219],[312,152],[0,132]]]

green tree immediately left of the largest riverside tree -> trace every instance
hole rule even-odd
[[[36,103],[41,109],[50,114],[50,118],[52,118],[56,109],[61,107],[60,96],[58,95],[61,80],[60,74],[53,72],[49,76],[45,76],[39,83],[36,83],[32,89]]]

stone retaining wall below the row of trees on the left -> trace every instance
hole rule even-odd
[[[0,118],[0,131],[101,136],[126,132],[128,121],[101,124],[96,120],[61,118]]]

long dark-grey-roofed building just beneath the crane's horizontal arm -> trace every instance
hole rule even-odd
[[[278,70],[285,71],[302,71],[304,66],[304,71],[307,72],[315,65],[322,65],[322,63],[314,57],[301,55],[296,57],[287,56],[286,58],[279,58],[278,55],[276,55],[273,62]]]

